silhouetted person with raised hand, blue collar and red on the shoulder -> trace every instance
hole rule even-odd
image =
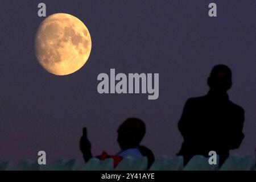
[[[120,160],[125,156],[131,156],[133,158],[141,158],[146,156],[148,159],[148,168],[154,162],[154,154],[150,149],[145,146],[141,146],[140,143],[146,133],[146,126],[141,119],[138,118],[128,118],[122,125],[119,126],[117,142],[121,151],[116,155],[108,155],[103,152],[102,155],[97,156],[97,158],[113,158],[114,166],[117,166]],[[84,135],[80,140],[80,150],[84,156],[85,162],[88,162],[92,158],[91,144],[87,138],[86,128],[84,128]]]

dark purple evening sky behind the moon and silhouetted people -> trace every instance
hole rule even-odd
[[[230,100],[245,109],[245,139],[238,154],[256,147],[256,1],[46,1],[47,15],[77,16],[92,36],[88,62],[69,76],[44,71],[34,36],[44,18],[42,1],[0,1],[0,159],[81,159],[79,139],[88,127],[93,153],[119,150],[117,127],[127,117],[146,122],[143,144],[156,156],[173,156],[184,103],[208,92],[216,64],[233,71]],[[217,3],[217,18],[208,5]],[[97,76],[159,73],[159,99],[147,94],[98,94]],[[214,134],[213,134],[214,135]]]

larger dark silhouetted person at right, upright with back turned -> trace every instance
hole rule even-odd
[[[226,65],[216,65],[208,85],[206,96],[187,100],[178,123],[184,142],[177,155],[183,155],[184,165],[194,155],[209,157],[209,151],[216,151],[221,166],[229,150],[240,147],[244,138],[244,111],[227,94],[232,86],[232,71]]]

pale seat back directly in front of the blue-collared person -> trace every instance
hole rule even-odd
[[[143,171],[147,169],[147,157],[135,159],[132,157],[125,157],[121,160],[116,171]]]

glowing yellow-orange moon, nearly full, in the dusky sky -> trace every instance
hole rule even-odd
[[[91,49],[88,28],[73,15],[50,15],[36,32],[36,58],[53,75],[63,76],[78,71],[88,60]]]

